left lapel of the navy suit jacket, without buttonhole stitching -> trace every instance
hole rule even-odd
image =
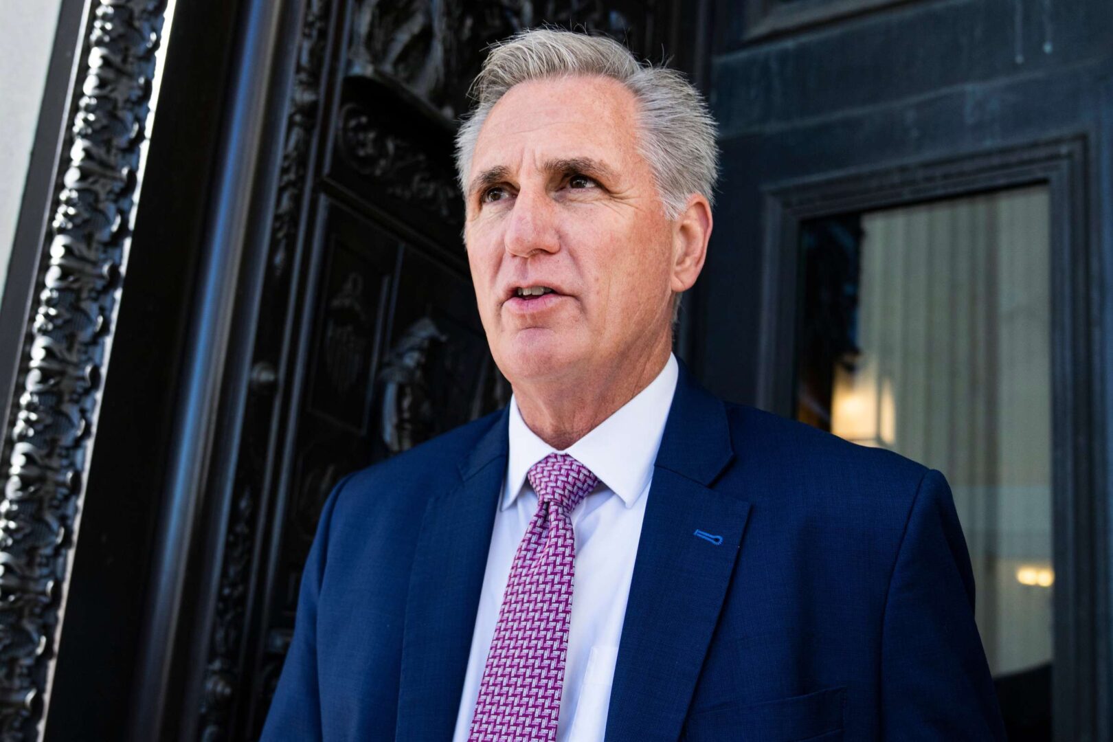
[[[506,469],[506,414],[461,464],[461,483],[425,509],[402,640],[395,739],[450,740]]]

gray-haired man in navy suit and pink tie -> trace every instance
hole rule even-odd
[[[464,241],[513,399],[333,491],[263,739],[1003,739],[943,476],[670,352],[699,95],[555,30],[475,91]]]

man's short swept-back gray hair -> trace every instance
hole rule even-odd
[[[456,171],[466,192],[480,129],[494,105],[520,82],[577,75],[603,76],[624,85],[640,105],[639,149],[653,172],[664,215],[676,219],[692,194],[715,204],[719,175],[716,122],[700,92],[684,76],[639,62],[605,36],[555,28],[526,29],[491,48],[472,82],[476,101],[456,133]]]

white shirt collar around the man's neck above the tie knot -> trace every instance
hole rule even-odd
[[[508,431],[510,452],[500,508],[513,505],[526,484],[530,467],[551,453],[567,453],[575,458],[621,497],[627,507],[632,507],[652,477],[678,376],[677,358],[670,353],[664,368],[649,386],[563,452],[558,452],[526,426],[512,396]]]

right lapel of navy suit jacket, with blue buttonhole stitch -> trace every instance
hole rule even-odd
[[[681,366],[630,583],[609,742],[680,736],[749,514],[710,488],[732,457],[722,403]]]

